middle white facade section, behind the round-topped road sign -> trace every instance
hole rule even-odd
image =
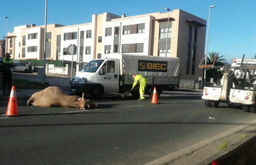
[[[79,44],[77,45],[77,39],[75,40],[64,40],[64,33],[70,33],[70,32],[78,32],[79,28],[79,36],[78,41]],[[62,28],[61,29],[61,60],[72,60],[72,55],[63,55],[63,48],[67,48],[70,44],[75,44],[78,46],[78,61],[79,61],[79,52],[80,52],[80,35],[81,31],[84,31],[84,40],[83,40],[83,59],[87,59],[88,57],[91,59],[91,55],[85,54],[85,47],[91,46],[91,54],[92,51],[92,38],[86,38],[86,31],[92,30],[92,24],[88,25],[81,25],[81,26],[75,26],[75,27],[68,27],[68,28]],[[77,61],[77,55],[73,56],[73,61]],[[83,60],[83,62],[86,62]]]

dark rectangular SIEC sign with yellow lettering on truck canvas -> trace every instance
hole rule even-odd
[[[138,60],[138,71],[167,72],[167,61]]]

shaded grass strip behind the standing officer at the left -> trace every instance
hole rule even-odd
[[[0,80],[0,88],[2,88],[2,74],[0,74]],[[43,85],[38,82],[19,78],[12,78],[11,85],[14,85],[16,89],[44,89],[48,87],[47,85]]]

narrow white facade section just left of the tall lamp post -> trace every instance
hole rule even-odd
[[[32,28],[26,30],[26,53],[25,58],[37,58],[40,60],[40,50],[41,50],[41,44],[40,40],[42,39],[41,35],[41,28]],[[30,39],[28,40],[28,34],[30,33],[37,33],[37,39]],[[28,46],[37,46],[37,52],[28,52]]]

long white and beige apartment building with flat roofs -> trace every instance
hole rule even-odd
[[[47,25],[46,58],[71,61],[73,54],[73,61],[88,62],[107,53],[167,54],[180,58],[181,79],[198,80],[203,75],[197,66],[204,55],[206,20],[177,9],[167,22],[168,12],[129,17],[106,12],[92,15],[91,23]],[[43,38],[44,26],[15,27],[8,33],[8,52],[15,59],[43,59]]]

